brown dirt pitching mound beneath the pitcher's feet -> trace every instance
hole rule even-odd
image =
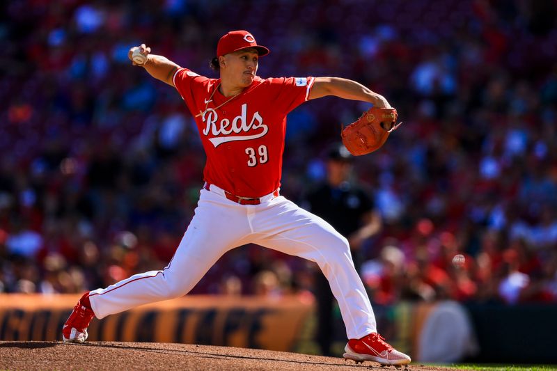
[[[260,349],[154,342],[0,342],[0,370],[395,370]],[[448,370],[409,365],[409,370]],[[452,369],[454,370],[454,369]]]

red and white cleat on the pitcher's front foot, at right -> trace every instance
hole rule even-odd
[[[407,365],[410,357],[387,344],[378,333],[370,333],[361,339],[350,339],[344,347],[346,359],[352,361],[375,361],[382,365]]]

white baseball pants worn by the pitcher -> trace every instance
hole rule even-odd
[[[249,243],[316,262],[338,301],[347,337],[359,339],[376,332],[375,315],[345,237],[283,196],[269,194],[260,205],[239,205],[214,184],[210,191],[201,189],[194,218],[168,266],[91,291],[93,312],[102,319],[181,297],[226,251]]]

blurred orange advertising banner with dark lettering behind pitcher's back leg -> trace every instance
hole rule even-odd
[[[0,340],[61,340],[79,295],[0,294]],[[93,319],[88,340],[182,342],[290,351],[311,297],[186,296]]]

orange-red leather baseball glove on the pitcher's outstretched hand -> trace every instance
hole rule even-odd
[[[367,155],[384,145],[389,134],[402,123],[393,108],[371,107],[341,134],[346,149],[354,156]]]

